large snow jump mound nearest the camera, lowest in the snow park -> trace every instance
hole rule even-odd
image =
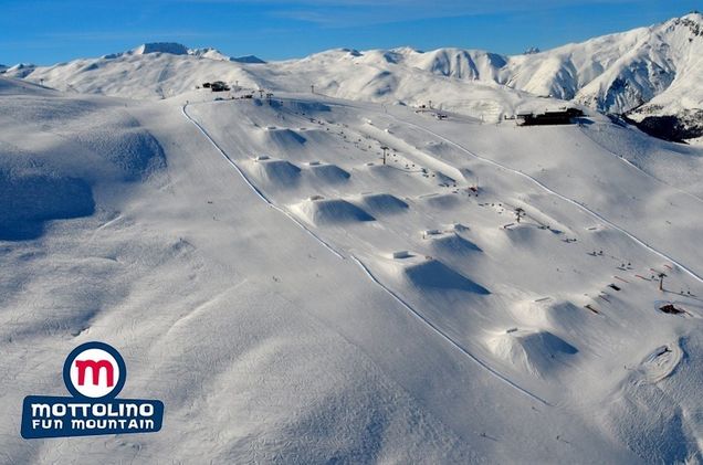
[[[546,330],[512,328],[487,338],[486,346],[497,358],[516,369],[543,377],[578,352],[576,347]]]

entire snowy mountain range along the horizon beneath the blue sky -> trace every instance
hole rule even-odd
[[[216,49],[151,43],[99,59],[0,72],[64,91],[139,98],[164,98],[202,81],[222,80],[274,92],[315,89],[384,103],[432,101],[486,120],[497,120],[525,102],[544,106],[548,101],[535,98],[552,97],[625,115],[646,129],[671,126],[658,134],[667,138],[703,135],[703,15],[697,12],[513,56],[451,47],[339,49],[265,63]]]

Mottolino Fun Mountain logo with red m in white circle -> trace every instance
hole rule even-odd
[[[22,406],[22,437],[154,433],[161,429],[164,403],[116,399],[127,379],[119,352],[104,342],[85,342],[63,364],[70,398],[28,395]]]

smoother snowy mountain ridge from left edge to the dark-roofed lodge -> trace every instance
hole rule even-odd
[[[432,101],[437,107],[494,121],[521,105],[559,105],[492,81],[448,80],[399,63],[401,56],[412,53],[417,52],[332,50],[303,60],[263,64],[256,57],[228,59],[212,49],[145,44],[98,59],[24,66],[6,75],[65,92],[130,98],[165,98],[211,81],[273,92],[309,92],[314,85],[316,93],[340,98],[407,105]]]

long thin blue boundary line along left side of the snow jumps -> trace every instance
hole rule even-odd
[[[288,213],[287,211],[283,210],[282,208],[280,208],[279,205],[274,204],[271,200],[269,200],[269,198],[266,198],[266,195],[261,192],[252,182],[251,180],[249,180],[249,178],[246,177],[246,175],[244,175],[244,172],[241,170],[241,168],[234,162],[234,160],[232,160],[232,158],[230,158],[227,152],[214,141],[214,139],[208,134],[208,131],[198,123],[195,120],[195,118],[192,118],[186,107],[188,106],[188,104],[183,105],[181,107],[181,112],[183,114],[183,116],[190,121],[199,130],[200,133],[210,141],[210,144],[220,152],[220,155],[222,157],[224,157],[224,159],[237,170],[237,172],[242,177],[242,179],[244,180],[244,182],[246,182],[246,184],[251,188],[252,191],[254,191],[254,193],[264,202],[266,202],[266,204],[269,204],[270,207],[272,207],[273,209],[277,210],[279,212],[285,214],[288,219],[293,220],[295,222],[295,224],[297,224],[298,226],[301,226],[304,231],[306,231],[309,235],[312,235],[317,242],[319,242],[325,249],[327,249],[328,251],[330,251],[333,254],[335,254],[338,258],[345,260],[345,257],[337,252],[332,245],[329,245],[328,243],[326,243],[325,241],[323,241],[319,236],[317,236],[314,232],[312,232],[308,228],[306,228],[304,224],[302,224],[295,216],[293,216],[291,213]],[[499,380],[501,380],[502,382],[506,383],[507,385],[510,385],[511,388],[520,391],[521,393],[527,395],[528,398],[536,400],[537,402],[541,402],[544,405],[550,405],[549,402],[547,402],[546,400],[539,398],[536,394],[533,394],[532,392],[529,392],[528,390],[522,388],[521,385],[518,385],[517,383],[515,383],[514,381],[512,381],[511,379],[508,379],[507,377],[505,377],[504,374],[500,373],[499,371],[496,371],[494,368],[490,367],[486,362],[482,361],[481,359],[479,359],[476,356],[474,356],[473,353],[471,353],[469,350],[466,350],[464,347],[462,347],[459,342],[457,342],[454,339],[452,339],[450,336],[448,336],[444,331],[442,331],[441,329],[439,329],[437,326],[434,326],[430,320],[428,320],[427,318],[424,318],[418,310],[416,310],[415,308],[412,308],[408,303],[406,303],[402,298],[400,298],[395,292],[392,292],[390,288],[388,288],[386,285],[384,285],[380,281],[378,281],[376,278],[376,276],[374,276],[374,274],[368,270],[368,267],[359,260],[357,258],[355,255],[350,254],[352,260],[354,260],[359,267],[364,271],[364,273],[368,276],[368,278],[376,284],[377,286],[379,286],[384,292],[386,292],[389,296],[391,296],[396,302],[398,302],[402,307],[405,307],[408,311],[410,311],[417,319],[419,319],[422,324],[424,324],[427,327],[429,327],[434,334],[437,334],[438,336],[440,336],[442,339],[444,339],[447,342],[449,342],[452,347],[454,347],[455,349],[458,349],[460,352],[462,352],[464,356],[469,357],[471,360],[473,360],[475,363],[478,363],[481,368],[483,368],[484,370],[486,370],[489,373],[491,373],[493,377],[497,378]]]

